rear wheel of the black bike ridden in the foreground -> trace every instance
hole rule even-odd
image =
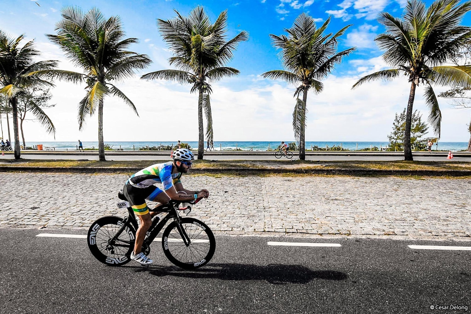
[[[119,236],[111,241],[122,228],[122,218],[106,216],[95,221],[89,228],[87,242],[91,254],[103,264],[121,266],[130,262],[134,249],[136,231],[126,225]]]

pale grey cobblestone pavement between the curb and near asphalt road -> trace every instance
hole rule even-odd
[[[127,214],[115,206],[126,175],[0,173],[0,178],[0,226],[87,228],[98,217]],[[211,197],[190,216],[216,233],[471,236],[469,179],[187,176],[183,183],[210,190]]]

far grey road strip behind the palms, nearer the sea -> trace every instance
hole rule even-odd
[[[46,155],[46,154],[22,154],[24,159],[44,159],[44,160],[98,160],[97,154],[79,154],[79,155]],[[14,159],[13,154],[7,154],[4,156],[0,155],[0,159]],[[218,155],[218,156],[204,156],[207,160],[286,160],[286,158],[276,159],[274,155]],[[297,155],[294,155],[293,160],[299,159]],[[108,161],[121,161],[121,160],[170,160],[169,156],[158,156],[158,155],[108,155],[106,156]],[[332,155],[306,155],[306,160],[314,161],[395,161],[404,160],[404,156],[332,156]],[[415,161],[448,161],[444,156],[414,156]],[[451,161],[471,161],[470,157],[454,157]]]

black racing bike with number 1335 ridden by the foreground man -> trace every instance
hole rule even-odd
[[[87,242],[90,252],[97,260],[109,266],[122,266],[131,261],[130,255],[134,250],[138,222],[130,203],[122,192],[118,193],[122,201],[117,203],[118,208],[128,209],[128,217],[106,216],[97,219],[89,228]],[[171,223],[162,233],[162,250],[165,256],[176,266],[184,269],[196,269],[206,265],[214,255],[216,240],[211,229],[202,221],[191,217],[180,217],[180,212],[189,213],[191,205],[200,201],[183,203],[169,201],[167,204],[152,209],[157,212],[166,212],[160,219],[155,216],[152,225],[147,231],[142,245],[142,252],[149,255],[150,244],[154,240],[160,241],[157,235],[165,224]]]

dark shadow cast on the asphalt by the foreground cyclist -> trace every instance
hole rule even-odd
[[[221,280],[259,280],[272,284],[308,283],[313,279],[345,280],[348,275],[332,270],[311,270],[300,265],[269,264],[267,266],[247,264],[211,264],[195,271],[177,266],[151,266],[136,268],[136,272],[148,272],[154,276],[176,276],[185,278],[215,278]]]

